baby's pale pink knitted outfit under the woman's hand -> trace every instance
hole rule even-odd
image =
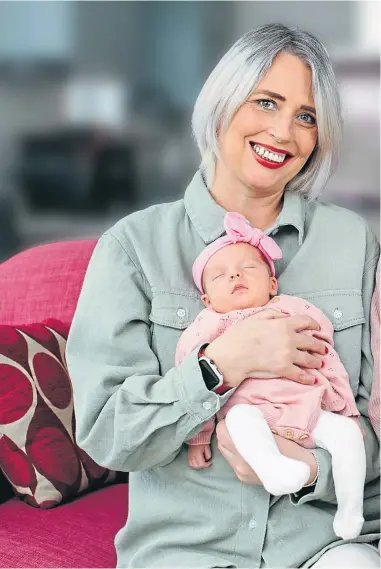
[[[274,433],[297,440],[306,448],[314,448],[311,433],[316,426],[321,409],[337,412],[347,417],[358,417],[359,412],[348,374],[333,347],[332,323],[313,304],[295,296],[282,294],[263,307],[234,310],[227,314],[219,314],[210,308],[205,309],[182,334],[177,345],[175,363],[179,365],[198,346],[205,342],[212,342],[231,325],[266,308],[290,315],[309,314],[317,320],[321,330],[314,331],[313,335],[323,340],[329,348],[328,353],[323,357],[325,365],[319,370],[314,370],[316,384],[313,386],[282,378],[272,380],[248,378],[235,390],[217,413],[217,417],[219,420],[223,419],[229,408],[238,403],[256,405]],[[207,444],[213,430],[214,418],[210,419],[201,432],[187,442]]]

